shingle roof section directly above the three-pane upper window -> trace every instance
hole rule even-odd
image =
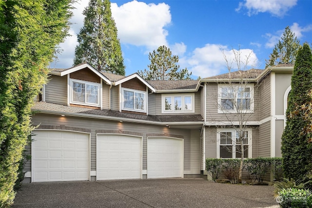
[[[156,90],[196,89],[199,80],[148,80]]]

